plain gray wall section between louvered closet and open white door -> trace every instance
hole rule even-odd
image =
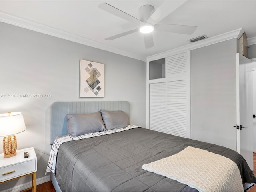
[[[191,138],[236,150],[236,39],[191,51]],[[218,139],[220,138],[220,140]]]

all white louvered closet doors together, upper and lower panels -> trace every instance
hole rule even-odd
[[[190,138],[190,52],[167,57],[166,78],[149,85],[149,128]]]

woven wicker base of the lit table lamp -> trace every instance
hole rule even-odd
[[[16,136],[6,136],[3,140],[3,151],[4,151],[4,158],[15,156],[17,150],[17,140]]]

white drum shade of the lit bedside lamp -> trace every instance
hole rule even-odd
[[[26,125],[22,113],[0,114],[0,136],[14,135],[24,130],[26,130]]]

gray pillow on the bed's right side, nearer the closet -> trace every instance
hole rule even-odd
[[[123,111],[100,110],[103,122],[107,130],[124,128],[129,125],[129,118]]]

